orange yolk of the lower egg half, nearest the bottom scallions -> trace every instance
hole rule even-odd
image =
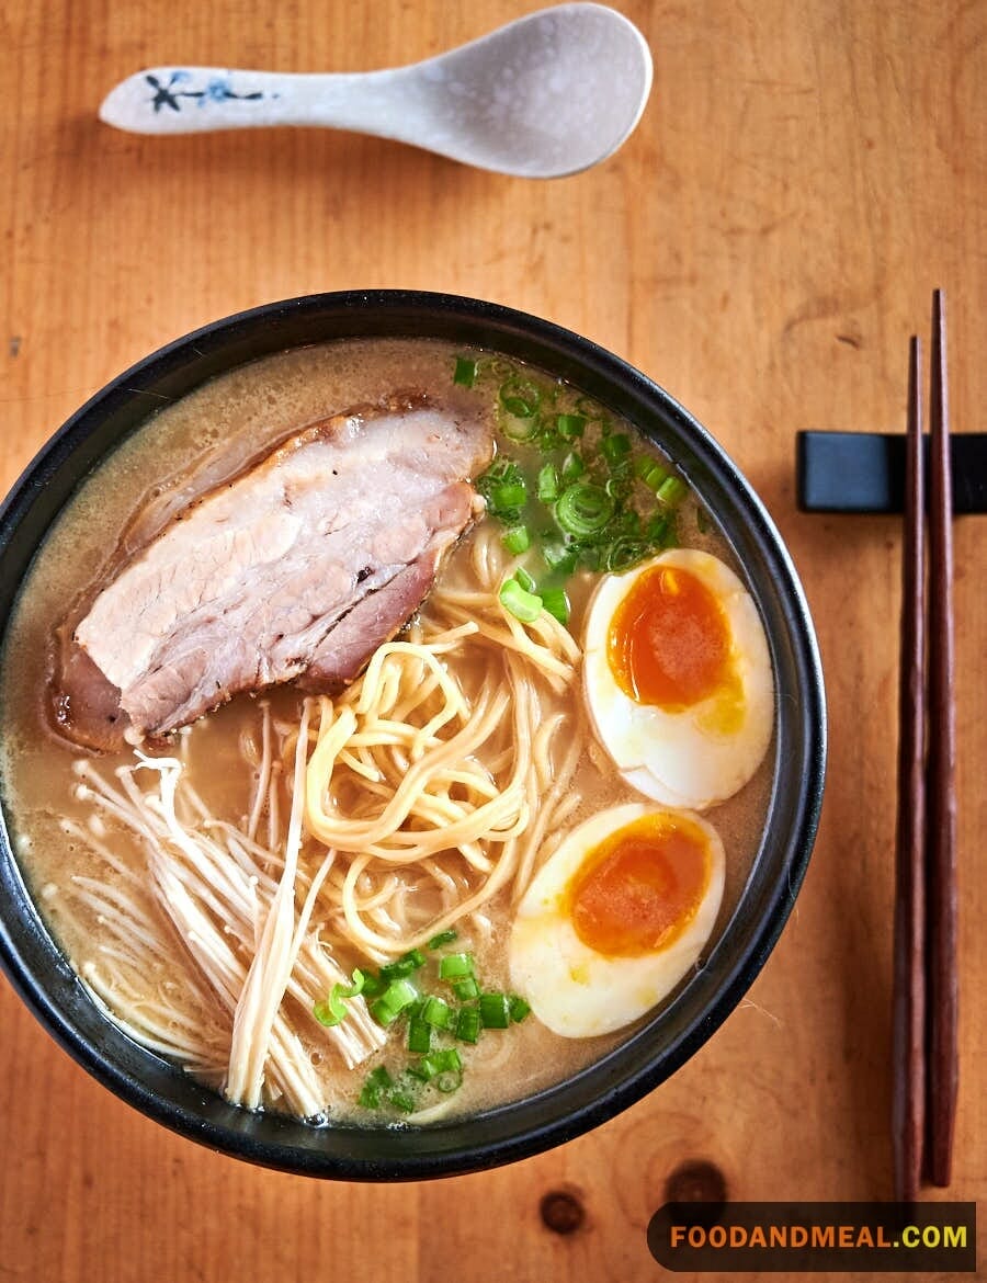
[[[696,916],[710,884],[710,848],[688,816],[646,815],[589,852],[569,888],[580,940],[606,957],[667,948]]]

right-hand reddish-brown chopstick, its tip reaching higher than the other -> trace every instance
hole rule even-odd
[[[927,1171],[947,1185],[959,1075],[956,1015],[956,731],[952,645],[952,471],[942,291],[932,300],[929,405],[929,677],[927,852]]]

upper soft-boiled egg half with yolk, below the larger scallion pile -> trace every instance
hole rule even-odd
[[[589,606],[583,672],[597,738],[657,802],[723,802],[768,751],[768,640],[751,594],[710,553],[674,548],[607,575]]]

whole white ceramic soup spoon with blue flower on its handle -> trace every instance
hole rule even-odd
[[[557,178],[606,159],[640,119],[651,53],[598,4],[562,4],[424,63],[288,76],[154,67],[99,114],[135,133],[314,124],[395,139],[481,169]]]

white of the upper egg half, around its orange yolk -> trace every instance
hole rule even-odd
[[[640,575],[656,566],[694,575],[716,598],[730,636],[730,663],[742,689],[739,724],[724,731],[716,695],[680,711],[637,703],[610,667],[614,612]],[[673,548],[628,571],[606,575],[587,615],[583,683],[593,729],[631,788],[674,807],[703,811],[751,779],[771,740],[774,679],[757,608],[738,576],[717,557]]]

